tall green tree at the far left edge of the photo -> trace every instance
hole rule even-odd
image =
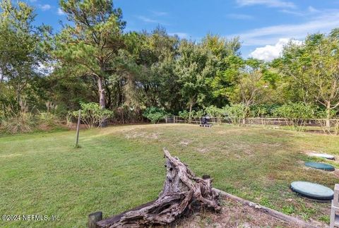
[[[32,79],[39,75],[42,30],[33,25],[34,9],[25,2],[2,0],[0,6],[0,84],[6,82],[13,92],[16,104],[12,105],[16,107]]]

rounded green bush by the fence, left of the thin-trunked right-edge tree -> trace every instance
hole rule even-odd
[[[314,117],[314,113],[314,107],[302,102],[283,104],[274,111],[275,116],[285,118],[293,131],[302,131],[305,121]]]

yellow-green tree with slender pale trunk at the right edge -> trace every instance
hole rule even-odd
[[[329,127],[331,111],[339,107],[338,30],[328,36],[309,35],[302,45],[288,44],[275,66],[299,85],[305,103],[318,102],[325,107]]]

